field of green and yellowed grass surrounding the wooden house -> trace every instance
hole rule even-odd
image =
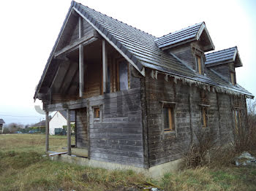
[[[72,140],[74,141],[74,140]],[[50,136],[50,150],[67,147],[65,136]],[[0,136],[0,190],[256,190],[256,168],[219,166],[147,179],[133,171],[107,171],[51,161],[43,135]]]

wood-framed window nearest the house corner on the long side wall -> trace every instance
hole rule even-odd
[[[175,130],[174,107],[164,106],[162,109],[162,113],[163,113],[163,120],[164,120],[164,130],[165,131]]]

